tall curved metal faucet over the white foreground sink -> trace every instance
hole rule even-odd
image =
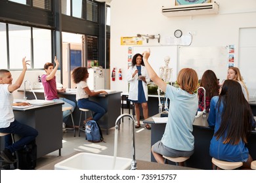
[[[132,147],[133,147],[133,160],[131,161],[131,170],[136,170],[137,169],[137,161],[135,160],[135,129],[134,129],[134,124],[135,124],[135,119],[131,114],[121,114],[117,119],[116,119],[116,129],[119,129],[121,119],[124,117],[128,117],[131,120],[133,120],[133,139],[132,139]]]

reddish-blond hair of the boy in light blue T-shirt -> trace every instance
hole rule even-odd
[[[194,69],[181,69],[177,78],[177,84],[179,84],[182,90],[193,93],[198,88],[198,74]]]

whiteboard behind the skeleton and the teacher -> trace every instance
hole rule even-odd
[[[164,58],[169,56],[170,62],[169,67],[173,68],[173,72],[171,75],[171,82],[175,82],[177,80],[177,64],[178,64],[178,54],[177,46],[133,46],[133,56],[135,54],[142,54],[144,51],[150,48],[150,58],[148,59],[148,63],[150,63],[151,67],[154,71],[159,75],[160,67],[165,66]]]

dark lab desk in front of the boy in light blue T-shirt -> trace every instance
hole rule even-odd
[[[208,115],[208,114],[207,114]],[[156,114],[153,117],[160,117],[160,114]],[[213,137],[214,130],[208,126],[207,118],[200,116],[195,118],[193,124],[194,135],[194,154],[186,161],[188,167],[196,169],[211,170],[211,156],[209,156],[209,146]],[[151,145],[161,140],[163,136],[166,124],[155,124],[152,117],[143,121],[143,123],[151,124]],[[247,148],[249,154],[255,160],[256,159],[256,131],[251,132],[251,136],[248,139]],[[151,161],[156,162],[154,156],[151,154]],[[169,162],[169,164],[174,164]]]

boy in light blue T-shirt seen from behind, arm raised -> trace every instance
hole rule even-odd
[[[158,163],[164,163],[163,156],[177,158],[190,157],[194,153],[193,122],[198,109],[198,75],[194,69],[179,71],[179,88],[166,84],[148,63],[150,50],[144,52],[143,60],[150,79],[165,92],[170,99],[168,120],[161,141],[152,146],[152,154]],[[184,163],[179,163],[184,165]]]

